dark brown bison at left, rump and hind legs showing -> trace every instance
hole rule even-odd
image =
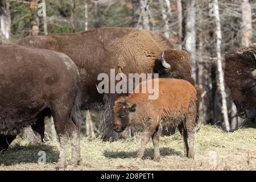
[[[80,162],[79,72],[64,53],[0,44],[0,150],[5,150],[23,127],[44,131],[52,115],[60,141],[58,164],[66,164],[68,138],[71,163]]]

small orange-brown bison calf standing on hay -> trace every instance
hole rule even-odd
[[[150,93],[146,92],[130,94],[115,102],[113,129],[122,132],[127,126],[142,127],[144,133],[137,157],[143,157],[151,137],[154,160],[159,161],[159,127],[178,126],[184,141],[184,155],[194,158],[196,89],[185,80],[159,78],[158,81],[159,97],[156,100],[148,100]]]

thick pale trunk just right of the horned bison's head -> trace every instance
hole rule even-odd
[[[186,36],[185,36],[185,48],[191,53],[191,67],[192,76],[195,80],[196,77],[196,10],[195,10],[195,0],[186,1],[187,18],[186,18]]]

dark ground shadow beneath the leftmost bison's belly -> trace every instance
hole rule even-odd
[[[0,165],[11,166],[21,163],[38,163],[40,156],[42,156],[39,151],[46,152],[46,163],[57,162],[59,151],[52,146],[44,144],[20,146],[15,144],[15,146],[9,147],[6,151],[0,152]]]

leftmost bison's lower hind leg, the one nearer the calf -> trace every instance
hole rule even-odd
[[[69,163],[76,166],[81,163],[79,127],[77,127],[74,122],[70,122],[68,132],[72,147],[72,158]]]

